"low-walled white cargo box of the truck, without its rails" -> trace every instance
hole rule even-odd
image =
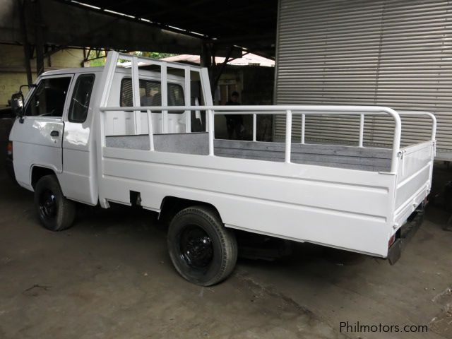
[[[149,136],[105,137],[105,201],[138,192],[156,212],[167,197],[207,201],[226,227],[386,257],[429,191],[432,141],[401,148],[392,172],[381,148],[292,143],[284,162],[283,143],[214,140],[211,156],[206,133],[153,138],[152,151]]]

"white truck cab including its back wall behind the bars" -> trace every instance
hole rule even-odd
[[[37,181],[47,174],[59,179],[64,196],[89,205],[98,202],[95,184],[95,129],[93,107],[95,96],[102,93],[100,78],[103,67],[64,69],[43,73],[32,86],[23,106],[23,116],[17,118],[11,131],[14,172],[20,186],[33,191]],[[184,105],[184,79],[169,75],[167,102]],[[162,105],[160,73],[140,70],[139,95],[141,106]],[[133,106],[131,69],[120,68],[114,73],[109,104]],[[186,130],[186,114],[168,112],[168,133]],[[143,123],[146,112],[134,119],[133,112],[110,114],[107,134],[121,136],[131,133]],[[191,118],[191,117],[190,117]],[[154,133],[161,133],[162,114],[152,114]],[[201,117],[194,120],[201,125]],[[194,124],[195,125],[195,124]]]

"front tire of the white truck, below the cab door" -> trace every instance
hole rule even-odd
[[[47,230],[66,230],[71,227],[76,217],[76,203],[63,195],[54,175],[46,175],[37,182],[35,206],[42,225]]]

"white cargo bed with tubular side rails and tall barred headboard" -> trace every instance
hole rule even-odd
[[[142,208],[160,213],[173,199],[208,204],[228,228],[386,257],[391,239],[429,193],[436,131],[429,112],[351,105],[215,106],[207,69],[178,64],[170,67],[184,69],[185,105],[172,105],[164,94],[161,105],[145,106],[139,97],[138,61],[160,66],[163,92],[168,65],[121,54],[131,61],[134,93],[133,106],[124,107],[118,100],[120,86],[114,86],[118,58],[109,53],[103,95],[98,96],[100,114],[95,114],[102,207],[138,200]],[[198,78],[203,95],[188,105],[191,79]],[[202,98],[205,105],[198,105]],[[176,111],[185,115],[172,117]],[[208,133],[191,133],[198,131],[191,126],[193,114],[205,114]],[[252,114],[253,141],[215,139],[215,117],[225,114]],[[285,115],[284,143],[256,141],[257,117],[266,114]],[[343,116],[359,117],[357,146],[302,142],[306,118],[319,114],[338,124]],[[429,140],[401,148],[401,115],[430,118]],[[364,145],[374,116],[393,121],[391,131],[381,131],[392,136],[391,149]],[[294,117],[301,122],[296,138]]]

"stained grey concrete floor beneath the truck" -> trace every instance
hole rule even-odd
[[[452,338],[452,232],[439,207],[396,266],[297,244],[279,261],[239,259],[203,288],[177,275],[152,213],[85,208],[71,230],[49,232],[32,193],[3,173],[0,187],[2,339]],[[341,333],[341,321],[429,332]]]

